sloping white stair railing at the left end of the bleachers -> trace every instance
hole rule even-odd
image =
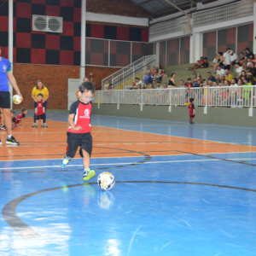
[[[138,73],[146,71],[147,66],[153,67],[156,65],[156,55],[147,55],[132,62],[130,65],[121,68],[116,73],[108,76],[106,79],[102,79],[102,90],[104,90],[104,84],[113,84],[113,89],[119,89],[121,84],[132,85],[129,81],[134,81]],[[128,84],[127,84],[128,82]]]

